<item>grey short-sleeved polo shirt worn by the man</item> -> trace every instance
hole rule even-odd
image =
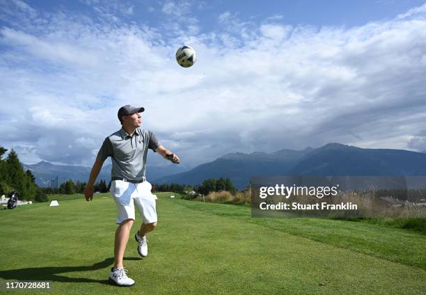
[[[142,180],[145,177],[148,148],[155,152],[160,145],[152,131],[138,128],[133,136],[129,136],[121,128],[105,138],[97,159],[105,161],[111,157],[111,177]]]

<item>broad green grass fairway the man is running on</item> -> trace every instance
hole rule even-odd
[[[426,294],[426,236],[370,223],[251,218],[250,208],[157,193],[159,223],[139,257],[132,229],[125,267],[107,283],[116,207],[109,194],[58,196],[0,210],[5,282],[50,281],[47,294]],[[118,291],[120,289],[120,291]],[[32,292],[10,292],[10,294]],[[37,293],[37,292],[36,292]]]

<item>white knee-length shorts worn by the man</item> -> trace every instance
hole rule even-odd
[[[147,181],[134,184],[123,180],[113,180],[109,191],[117,204],[116,223],[120,224],[126,219],[134,220],[135,205],[141,214],[143,223],[157,222],[157,210],[155,209],[157,196],[151,193],[151,188],[151,184]]]

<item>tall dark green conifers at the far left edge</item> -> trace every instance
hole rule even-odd
[[[45,193],[36,184],[36,177],[30,170],[24,171],[14,150],[10,150],[8,157],[3,159],[7,151],[0,147],[0,195],[17,191],[21,200],[47,201]]]

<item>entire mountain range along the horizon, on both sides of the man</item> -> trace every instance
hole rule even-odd
[[[56,176],[59,184],[68,179],[86,182],[90,174],[89,167],[61,166],[46,161],[22,166],[31,170],[40,186],[49,186]],[[329,143],[304,150],[234,152],[191,170],[179,165],[147,167],[147,177],[152,183],[194,185],[208,178],[229,177],[237,189],[244,189],[253,176],[278,175],[426,175],[426,154]],[[97,180],[109,182],[110,177],[111,164],[102,167]]]

